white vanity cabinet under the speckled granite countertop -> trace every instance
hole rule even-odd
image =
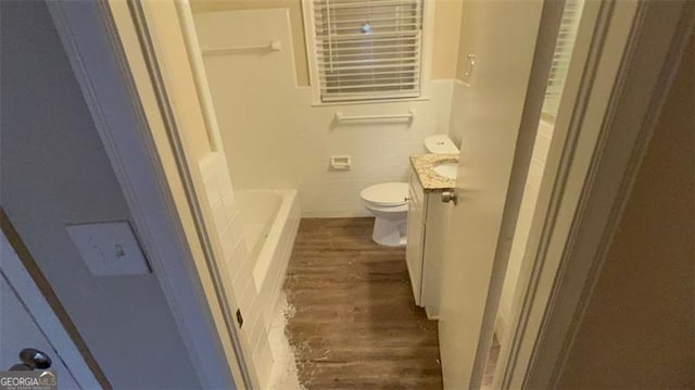
[[[408,181],[405,259],[415,303],[434,319],[440,309],[441,264],[452,204],[441,201],[444,189],[426,189],[413,168]]]

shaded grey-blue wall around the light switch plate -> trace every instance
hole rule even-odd
[[[0,7],[2,207],[114,387],[199,388],[154,275],[94,277],[67,236],[130,213],[46,4]]]

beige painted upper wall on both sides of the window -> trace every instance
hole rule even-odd
[[[432,78],[450,79],[456,76],[463,0],[435,0],[435,3]],[[190,4],[194,13],[287,8],[292,24],[296,83],[300,86],[308,86],[302,0],[190,0]]]

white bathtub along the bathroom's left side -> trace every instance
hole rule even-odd
[[[280,295],[300,226],[296,190],[235,191],[244,240],[253,262],[253,281],[266,324]]]

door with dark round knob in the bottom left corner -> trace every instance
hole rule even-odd
[[[59,389],[101,388],[4,234],[0,240],[0,370],[50,370]]]

